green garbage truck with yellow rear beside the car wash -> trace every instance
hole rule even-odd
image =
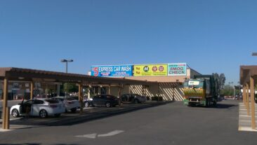
[[[211,106],[218,100],[218,81],[213,75],[196,75],[184,82],[184,104]]]

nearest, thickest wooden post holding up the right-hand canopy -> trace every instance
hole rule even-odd
[[[251,129],[255,130],[255,102],[254,102],[254,80],[251,76],[250,78],[250,88],[251,88]]]

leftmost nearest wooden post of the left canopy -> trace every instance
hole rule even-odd
[[[2,128],[8,130],[10,126],[10,120],[8,119],[8,79],[4,78],[4,100],[3,100],[3,123]]]

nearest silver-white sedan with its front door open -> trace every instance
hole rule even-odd
[[[47,116],[60,116],[65,112],[65,106],[55,99],[29,99],[26,102],[11,107],[10,113],[13,117],[18,116],[39,116],[46,118]]]

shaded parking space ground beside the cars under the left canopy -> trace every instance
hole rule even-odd
[[[60,117],[39,118],[35,116],[23,116],[19,118],[13,118],[10,116],[10,129],[18,129],[29,126],[54,126],[54,125],[70,125],[74,123],[86,122],[88,120],[103,118],[107,116],[113,116],[120,113],[126,113],[129,111],[135,111],[138,109],[144,109],[151,106],[158,106],[169,102],[155,102],[147,101],[143,104],[124,103],[121,106],[116,107],[84,107],[82,113],[79,109],[76,112],[68,111],[62,113]],[[1,120],[0,120],[1,122]]]

